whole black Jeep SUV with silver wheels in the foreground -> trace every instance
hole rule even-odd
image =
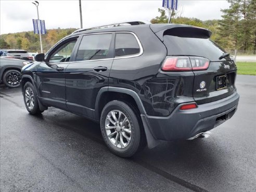
[[[23,67],[25,107],[53,106],[100,123],[130,157],[158,140],[191,139],[235,113],[236,65],[211,32],[182,24],[78,30]]]

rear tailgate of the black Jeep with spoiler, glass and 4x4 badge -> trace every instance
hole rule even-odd
[[[235,91],[236,65],[229,57],[220,59],[225,52],[209,39],[211,32],[189,25],[163,25],[162,30],[152,31],[167,47],[168,56],[188,56],[209,59],[209,67],[194,72],[193,97],[197,104],[205,104],[219,100]],[[159,29],[159,27],[158,27]],[[155,31],[154,31],[155,30]]]

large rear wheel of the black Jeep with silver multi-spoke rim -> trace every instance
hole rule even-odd
[[[119,125],[114,125],[116,122],[119,122]],[[107,147],[120,157],[131,157],[144,146],[144,132],[139,114],[133,106],[123,101],[110,101],[103,108],[100,116],[100,130]]]

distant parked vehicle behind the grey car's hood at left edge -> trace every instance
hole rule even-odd
[[[22,59],[29,62],[34,61],[33,57],[28,54],[27,50],[1,49],[0,56],[13,59]]]

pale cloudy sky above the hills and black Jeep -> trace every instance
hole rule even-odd
[[[37,0],[39,16],[47,29],[80,28],[79,0]],[[32,1],[0,0],[0,34],[33,31],[37,19]],[[161,0],[82,0],[83,28],[122,21],[150,21],[159,16]],[[178,15],[201,20],[221,19],[221,9],[229,7],[225,0],[178,0]]]

